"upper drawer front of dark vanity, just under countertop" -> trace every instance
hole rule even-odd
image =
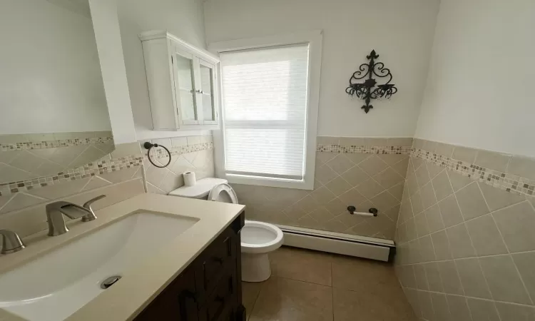
[[[226,229],[208,246],[196,262],[195,283],[200,301],[203,301],[218,285],[229,265],[235,266],[237,235]]]

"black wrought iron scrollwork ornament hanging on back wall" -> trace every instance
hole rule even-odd
[[[362,106],[362,109],[368,113],[368,111],[373,108],[373,106],[370,105],[372,99],[389,99],[394,93],[397,93],[397,88],[393,83],[390,83],[390,81],[392,81],[392,73],[390,73],[390,69],[384,68],[384,63],[375,62],[375,59],[379,58],[379,55],[376,54],[374,50],[372,50],[370,55],[366,56],[366,58],[370,62],[362,63],[359,70],[353,73],[350,78],[350,86],[345,88],[345,92],[349,93],[350,96],[357,96],[360,99],[364,99],[366,104]],[[377,85],[377,81],[373,78],[374,75],[379,78],[389,78],[387,83]],[[357,83],[357,81],[366,77],[367,79],[363,83]]]

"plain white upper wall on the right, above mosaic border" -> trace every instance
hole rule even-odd
[[[535,156],[535,1],[442,0],[417,138]]]

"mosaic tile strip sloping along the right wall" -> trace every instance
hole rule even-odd
[[[444,167],[447,170],[452,170],[473,180],[479,180],[482,183],[509,193],[524,195],[526,197],[535,195],[535,180],[530,180],[529,178],[503,173],[499,170],[483,168],[474,163],[459,161],[448,156],[425,151],[421,148],[412,148],[411,156]]]

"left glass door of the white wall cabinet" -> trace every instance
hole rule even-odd
[[[175,91],[181,123],[198,124],[197,97],[195,96],[195,78],[193,72],[193,55],[176,52],[173,56],[175,68]]]

